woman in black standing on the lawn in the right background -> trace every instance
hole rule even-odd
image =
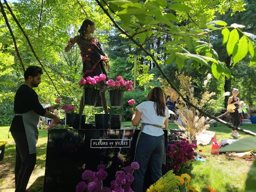
[[[233,126],[235,126],[235,127],[238,127],[240,124],[240,116],[239,116],[239,112],[238,112],[238,107],[239,107],[240,101],[239,101],[239,98],[237,97],[238,93],[239,93],[238,88],[233,88],[232,96],[229,96],[228,100],[227,100],[227,105],[234,104],[234,106],[235,106],[234,112],[230,112],[230,115],[233,119]],[[240,137],[239,133],[237,132],[237,130],[235,128],[232,128],[230,135],[234,136],[236,138]]]

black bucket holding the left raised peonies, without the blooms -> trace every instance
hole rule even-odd
[[[83,89],[83,104],[95,106],[99,90],[92,87],[84,87]]]

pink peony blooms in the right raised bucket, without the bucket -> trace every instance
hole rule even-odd
[[[133,90],[133,82],[131,80],[124,80],[122,76],[116,76],[116,80],[109,79],[106,81],[107,88],[121,89],[125,91]]]

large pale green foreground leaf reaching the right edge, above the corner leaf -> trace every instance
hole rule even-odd
[[[256,136],[241,138],[218,149],[219,152],[246,152],[251,150],[256,150]]]

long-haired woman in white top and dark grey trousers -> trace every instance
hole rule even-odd
[[[161,176],[161,166],[164,156],[164,132],[168,126],[169,117],[165,97],[160,87],[154,87],[147,94],[147,101],[132,109],[131,122],[135,126],[142,123],[135,150],[135,161],[139,169],[134,171],[132,189],[134,192],[143,191],[144,175],[148,162],[150,163],[151,180],[156,182]]]

